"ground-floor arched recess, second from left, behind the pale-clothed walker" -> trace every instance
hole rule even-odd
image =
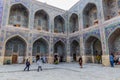
[[[33,43],[33,59],[38,60],[40,56],[48,55],[48,43],[40,38]]]

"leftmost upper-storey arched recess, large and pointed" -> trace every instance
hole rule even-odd
[[[9,15],[9,25],[14,27],[28,28],[29,11],[22,4],[14,4],[11,6]]]

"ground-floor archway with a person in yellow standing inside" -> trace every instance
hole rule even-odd
[[[96,37],[89,37],[85,42],[85,54],[87,63],[102,63],[101,41]]]

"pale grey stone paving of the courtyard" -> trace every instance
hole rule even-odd
[[[0,80],[120,80],[120,68],[86,64],[81,69],[77,63],[59,65],[45,64],[43,71],[37,72],[37,65],[31,71],[23,71],[24,65],[0,66]]]

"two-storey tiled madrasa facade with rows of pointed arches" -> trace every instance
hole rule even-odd
[[[32,62],[109,65],[120,54],[120,0],[80,0],[62,10],[35,0],[0,0],[0,64]],[[97,56],[99,55],[99,59]]]

